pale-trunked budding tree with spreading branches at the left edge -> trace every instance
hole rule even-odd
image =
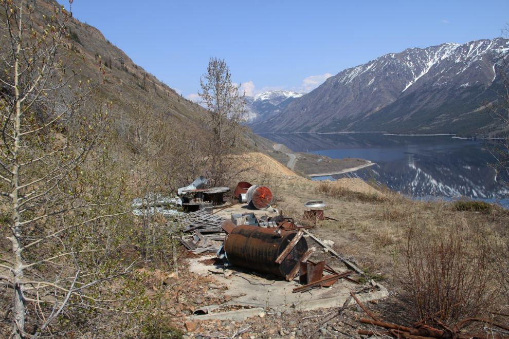
[[[54,322],[106,309],[98,286],[136,265],[117,255],[123,183],[104,142],[112,107],[87,103],[96,88],[66,42],[71,14],[54,4],[36,23],[34,3],[0,0],[0,196],[11,243],[0,288],[14,338],[52,336]]]

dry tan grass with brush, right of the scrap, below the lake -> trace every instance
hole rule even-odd
[[[381,191],[355,192],[348,182],[315,184],[316,195],[335,199],[338,205],[361,202],[371,207],[371,213],[349,211],[350,219],[338,218],[336,232],[355,239],[348,245],[338,243],[339,253],[358,262],[370,276],[379,276],[375,272],[386,260],[385,272],[410,292],[409,313],[420,319],[444,310],[441,321],[452,324],[507,307],[509,220],[505,211],[484,203],[465,208],[440,199],[410,199],[377,188]]]

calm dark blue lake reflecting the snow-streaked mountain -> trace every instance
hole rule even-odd
[[[504,197],[497,186],[495,171],[488,167],[494,158],[484,141],[382,133],[260,135],[285,144],[294,152],[336,159],[359,158],[375,163],[356,172],[314,180],[374,178],[389,189],[414,197],[464,196],[486,201]],[[506,204],[506,201],[501,202]]]

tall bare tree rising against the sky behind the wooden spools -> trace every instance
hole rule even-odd
[[[240,85],[231,82],[231,73],[224,60],[210,58],[207,72],[200,79],[202,91],[198,92],[207,114],[201,116],[213,131],[210,152],[209,176],[212,185],[227,185],[234,176],[230,155],[245,130],[243,123],[244,96]]]

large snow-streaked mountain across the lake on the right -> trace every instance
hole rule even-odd
[[[384,130],[468,135],[490,122],[480,115],[509,40],[446,43],[389,53],[345,69],[254,131]]]

